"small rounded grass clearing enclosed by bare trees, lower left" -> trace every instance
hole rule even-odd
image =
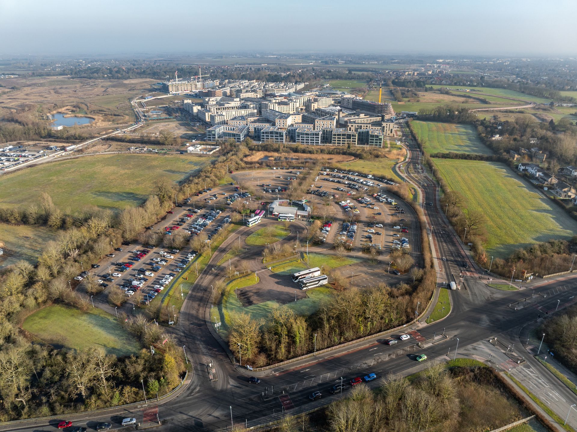
[[[57,348],[103,347],[117,356],[140,351],[140,344],[117,318],[98,307],[87,312],[63,305],[44,307],[26,318],[22,328]]]

